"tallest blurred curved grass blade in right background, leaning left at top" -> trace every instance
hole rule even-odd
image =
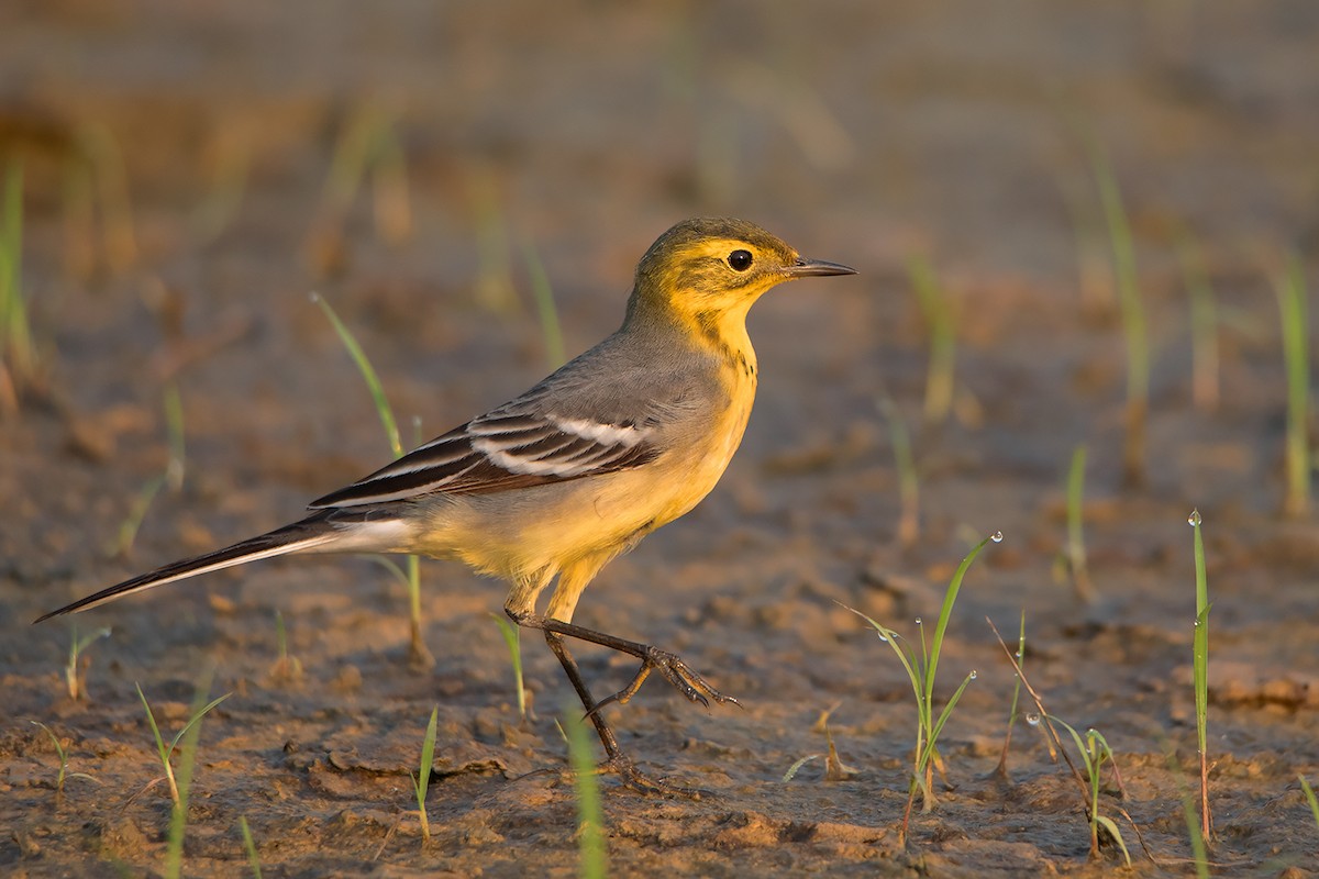
[[[1091,144],[1091,166],[1104,208],[1108,239],[1113,249],[1113,275],[1117,279],[1122,335],[1126,339],[1126,438],[1122,444],[1122,470],[1126,481],[1145,480],[1145,422],[1149,414],[1150,352],[1145,329],[1145,303],[1136,274],[1136,245],[1122,207],[1113,169],[1096,144]]]

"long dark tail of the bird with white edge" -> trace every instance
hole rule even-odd
[[[187,577],[195,577],[200,573],[222,571],[223,568],[232,568],[236,564],[257,561],[259,559],[270,559],[274,556],[288,555],[290,552],[388,551],[392,548],[389,546],[389,540],[386,539],[388,532],[393,531],[394,536],[397,536],[397,527],[400,525],[401,523],[398,521],[368,522],[365,521],[365,517],[350,518],[344,517],[343,510],[336,509],[318,510],[301,522],[286,525],[282,528],[276,528],[274,531],[268,531],[266,534],[260,534],[255,538],[248,538],[247,540],[224,547],[223,550],[207,552],[191,559],[173,561],[162,568],[133,577],[132,580],[115,584],[113,586],[102,589],[100,592],[90,594],[86,598],[79,598],[71,605],[65,605],[59,610],[51,610],[47,614],[42,614],[33,622],[38,623],[61,614],[87,610],[88,608],[103,605],[107,601],[123,598],[124,596],[152,589],[153,586],[162,586],[166,582],[174,582],[175,580],[185,580]]]

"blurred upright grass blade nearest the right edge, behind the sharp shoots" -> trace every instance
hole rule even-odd
[[[1293,253],[1274,283],[1282,319],[1282,357],[1287,370],[1287,489],[1282,511],[1302,517],[1310,511],[1310,331],[1306,324],[1306,281],[1301,258]]]

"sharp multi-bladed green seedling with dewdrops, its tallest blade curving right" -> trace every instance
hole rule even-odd
[[[871,617],[867,617],[860,610],[853,608],[847,608],[856,615],[871,623],[874,631],[878,633],[880,639],[893,648],[897,655],[898,662],[902,663],[902,669],[907,675],[907,680],[911,681],[911,691],[915,695],[917,705],[917,735],[915,735],[915,752],[911,762],[911,785],[907,792],[907,805],[906,813],[902,817],[902,830],[900,837],[906,841],[907,821],[911,817],[911,804],[915,801],[917,791],[921,792],[921,810],[929,812],[934,808],[934,768],[935,764],[942,764],[938,751],[939,733],[943,731],[943,725],[948,721],[952,714],[952,709],[956,706],[958,700],[962,698],[962,693],[967,689],[967,685],[976,679],[976,672],[972,669],[963,680],[962,685],[958,687],[956,692],[944,704],[943,710],[938,716],[934,713],[934,680],[935,672],[939,667],[939,654],[943,650],[943,635],[948,627],[948,618],[952,615],[952,605],[958,600],[958,592],[962,589],[962,580],[967,575],[967,569],[971,563],[976,560],[980,551],[984,550],[987,543],[998,543],[1002,540],[1002,534],[996,532],[975,547],[967,553],[967,557],[962,560],[958,565],[956,572],[952,575],[952,580],[948,581],[948,589],[943,596],[943,606],[939,609],[939,621],[934,627],[934,639],[926,644],[925,629],[921,625],[921,618],[917,618],[917,626],[921,630],[921,652],[917,654],[915,648],[907,644],[897,631],[885,627],[884,625],[876,622]]]

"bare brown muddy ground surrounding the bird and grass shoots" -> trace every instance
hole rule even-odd
[[[557,721],[579,709],[524,638],[520,718],[491,619],[500,584],[423,564],[429,666],[409,659],[405,590],[368,559],[257,564],[29,621],[290,521],[388,460],[309,291],[356,332],[404,432],[415,415],[433,436],[546,370],[534,262],[572,353],[617,326],[660,232],[737,215],[860,275],[757,306],[761,391],[739,456],[582,601],[578,622],[674,650],[743,704],[703,710],[652,680],[608,709],[644,771],[704,791],[600,776],[612,872],[1107,875],[1120,854],[1091,858],[1082,789],[1042,725],[1018,717],[995,771],[1014,673],[985,619],[1013,640],[1025,613],[1047,712],[1116,755],[1100,813],[1130,875],[1194,875],[1199,509],[1213,871],[1319,875],[1298,780],[1319,783],[1319,532],[1281,514],[1274,298],[1289,252],[1315,286],[1316,45],[1306,0],[8,4],[0,152],[24,169],[40,368],[0,389],[0,868],[166,870],[140,685],[166,737],[199,689],[231,693],[199,731],[187,875],[248,868],[240,818],[266,876],[576,875]],[[1126,352],[1087,144],[1136,240],[1142,480],[1124,472]],[[355,154],[373,157],[360,186]],[[1192,394],[1187,236],[1217,303],[1212,406]],[[952,411],[934,422],[915,257],[956,320]],[[115,552],[170,460],[170,387],[182,482]],[[881,398],[913,435],[907,546]],[[1059,564],[1079,444],[1089,601]],[[993,531],[952,610],[936,702],[977,675],[942,733],[938,801],[917,804],[902,841],[911,689],[842,605],[914,643]],[[83,651],[78,700],[74,622],[112,630]],[[633,672],[576,652],[600,693]],[[409,774],[435,705],[426,842]],[[826,712],[836,763],[820,756]],[[33,722],[66,749],[62,792]]]

